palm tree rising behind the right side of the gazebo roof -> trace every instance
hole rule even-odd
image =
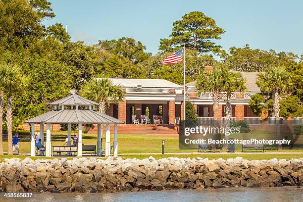
[[[124,98],[122,86],[114,85],[108,78],[91,78],[84,83],[80,94],[92,101],[99,103],[99,112],[105,113],[109,102],[119,102]],[[101,124],[101,136],[103,124]]]

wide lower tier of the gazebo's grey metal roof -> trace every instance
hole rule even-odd
[[[109,115],[103,114],[99,111],[64,109],[49,111],[34,118],[28,119],[24,121],[24,123],[115,124],[124,122]]]

